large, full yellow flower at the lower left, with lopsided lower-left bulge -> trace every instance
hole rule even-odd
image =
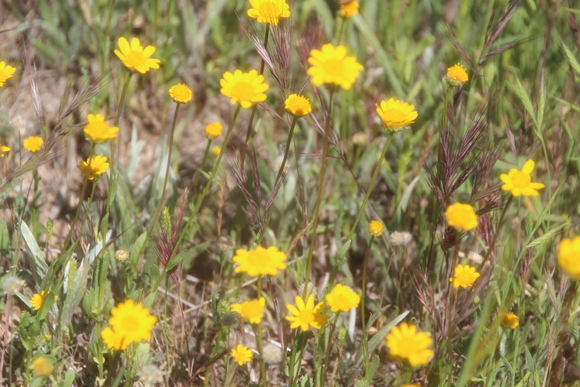
[[[151,338],[151,331],[157,317],[149,314],[149,309],[133,300],[127,300],[111,310],[109,324],[101,332],[103,341],[110,349],[125,349],[131,343]]]

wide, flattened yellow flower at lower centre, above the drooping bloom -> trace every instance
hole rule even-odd
[[[278,270],[285,269],[286,254],[278,251],[277,247],[265,249],[258,246],[257,249],[246,251],[239,249],[232,258],[232,262],[239,264],[234,270],[236,273],[247,272],[250,277],[259,275],[276,275]]]

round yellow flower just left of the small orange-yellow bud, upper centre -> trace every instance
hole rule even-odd
[[[224,73],[220,80],[220,92],[232,103],[239,103],[243,108],[249,109],[253,104],[266,100],[264,92],[268,90],[268,85],[264,83],[264,76],[258,75],[256,70],[249,73],[242,73],[240,70]]]

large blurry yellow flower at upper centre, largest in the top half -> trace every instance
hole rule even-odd
[[[315,86],[332,83],[345,90],[350,89],[363,70],[363,66],[354,56],[346,56],[346,47],[334,47],[332,44],[325,44],[322,50],[310,51],[308,63],[312,67],[307,73],[312,77]]]

